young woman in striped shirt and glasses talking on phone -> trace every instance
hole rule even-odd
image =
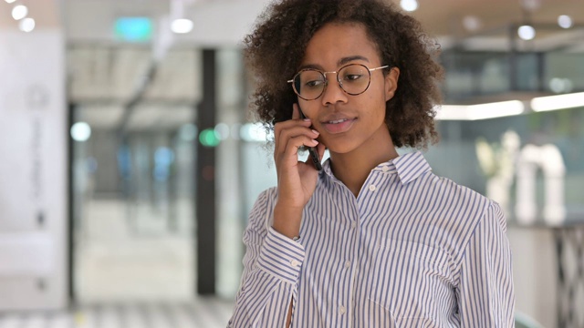
[[[230,326],[512,327],[501,209],[396,151],[437,137],[420,24],[381,0],[284,0],[245,44],[277,187],[250,213]],[[322,170],[303,147],[328,149]]]

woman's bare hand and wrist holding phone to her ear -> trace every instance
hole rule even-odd
[[[302,210],[317,187],[318,170],[312,159],[298,160],[302,146],[316,147],[320,158],[325,146],[318,143],[318,132],[310,120],[300,118],[297,104],[292,108],[292,119],[276,123],[274,161],[276,162],[278,200],[274,209],[274,229],[290,238],[297,236]]]

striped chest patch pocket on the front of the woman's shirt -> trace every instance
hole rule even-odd
[[[438,316],[441,303],[447,306],[444,294],[454,295],[446,252],[419,242],[381,240],[368,277],[370,302],[388,311],[396,323],[414,320],[412,327],[435,326],[430,319]]]

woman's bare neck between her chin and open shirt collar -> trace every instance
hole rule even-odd
[[[369,177],[371,169],[398,157],[398,153],[391,142],[391,137],[389,142],[387,140],[383,141],[377,143],[383,146],[376,149],[358,148],[349,153],[330,152],[330,168],[335,177],[342,181],[355,197],[359,196],[359,192],[363,187],[363,183]]]

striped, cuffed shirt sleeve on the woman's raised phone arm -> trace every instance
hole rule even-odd
[[[304,261],[304,247],[276,232],[270,218],[274,197],[255,201],[244,233],[244,272],[228,327],[284,327]]]

